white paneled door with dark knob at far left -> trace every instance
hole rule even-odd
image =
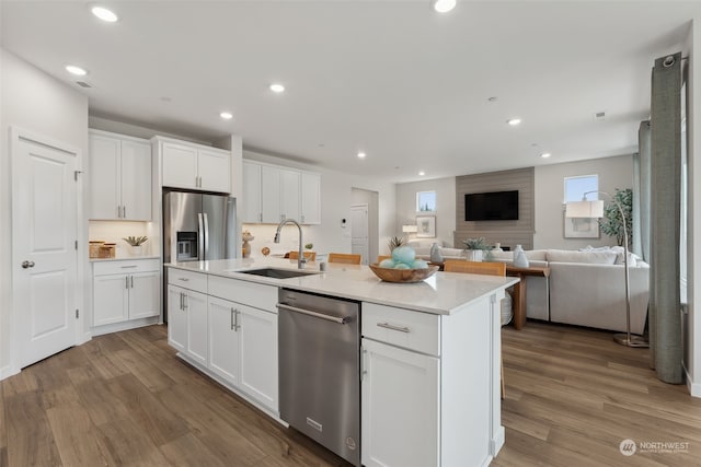
[[[77,343],[78,152],[13,130],[14,350],[24,367]]]

